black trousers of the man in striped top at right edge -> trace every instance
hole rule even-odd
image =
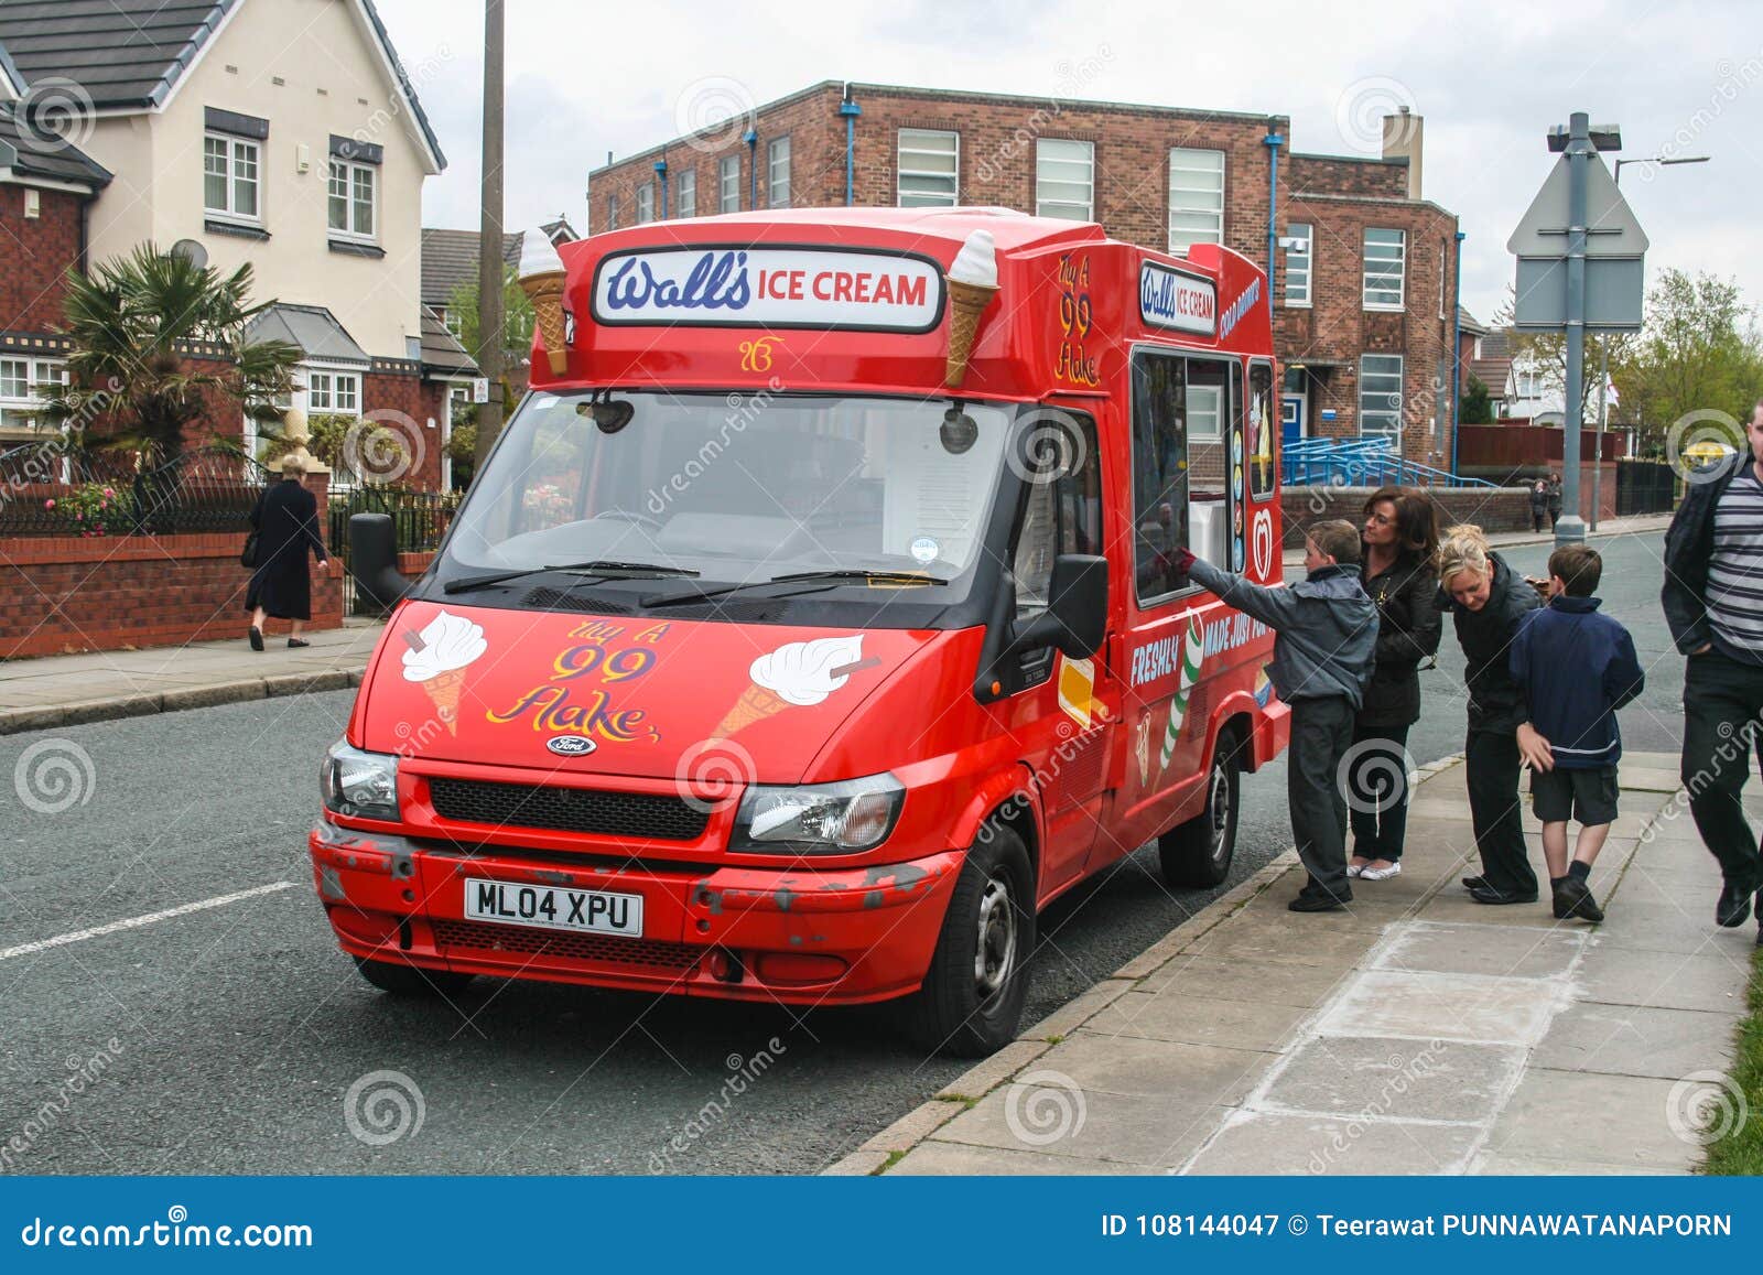
[[[1730,882],[1763,885],[1763,857],[1738,794],[1751,769],[1751,735],[1763,712],[1763,667],[1719,651],[1684,668],[1684,790],[1696,831]]]

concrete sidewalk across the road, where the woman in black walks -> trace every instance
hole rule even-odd
[[[303,651],[289,651],[286,626],[277,626],[263,652],[238,637],[11,660],[0,663],[0,735],[360,686],[381,628],[346,619],[340,630],[309,633]]]

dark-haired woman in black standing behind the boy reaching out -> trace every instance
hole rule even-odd
[[[1409,824],[1409,727],[1421,716],[1419,668],[1439,652],[1439,510],[1425,492],[1384,487],[1365,503],[1359,582],[1377,603],[1377,668],[1354,718],[1343,781],[1352,809],[1349,876],[1402,871]]]

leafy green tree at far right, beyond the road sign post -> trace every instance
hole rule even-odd
[[[1648,453],[1694,411],[1745,421],[1763,393],[1756,310],[1733,280],[1666,270],[1647,295],[1647,326],[1613,379],[1624,414],[1641,421]]]

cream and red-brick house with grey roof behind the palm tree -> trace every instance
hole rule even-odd
[[[14,279],[143,242],[187,242],[224,273],[249,261],[257,300],[277,300],[256,330],[305,351],[294,404],[409,436],[402,481],[437,488],[450,390],[476,369],[421,307],[421,189],[446,164],[416,97],[425,74],[405,72],[372,0],[0,0],[0,101],[26,118],[55,99],[56,157],[90,166],[23,175],[55,176],[56,198],[37,196],[35,240],[0,236],[0,295],[32,298],[0,323],[55,328],[55,289]],[[7,227],[28,226],[12,208],[26,190],[0,180]],[[53,353],[41,372],[55,374]],[[26,409],[0,406],[7,423]]]

